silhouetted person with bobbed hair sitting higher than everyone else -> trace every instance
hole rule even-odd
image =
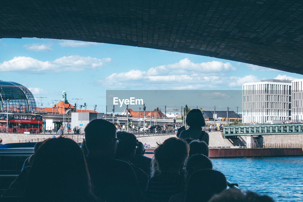
[[[191,109],[186,116],[186,124],[189,126],[188,130],[183,130],[179,138],[193,138],[194,140],[205,141],[209,144],[208,133],[202,130],[205,126],[205,120],[200,109]]]

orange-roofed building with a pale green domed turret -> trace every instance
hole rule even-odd
[[[54,104],[53,107],[45,107],[44,109],[38,109],[37,111],[39,112],[44,112],[44,113],[57,113],[57,114],[64,114],[68,109],[72,109],[72,112],[75,111],[75,107],[70,104],[67,99],[66,99],[66,92],[65,90],[62,92],[62,98],[61,100]],[[77,109],[77,112],[91,112],[91,113],[97,113],[97,111],[94,110],[85,110],[85,109]]]

